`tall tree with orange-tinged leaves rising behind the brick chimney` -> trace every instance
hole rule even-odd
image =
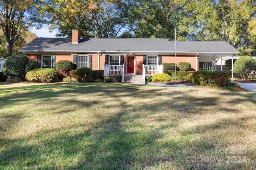
[[[41,9],[50,29],[58,29],[58,37],[70,37],[79,29],[82,37],[116,37],[126,25],[123,0],[48,0]]]

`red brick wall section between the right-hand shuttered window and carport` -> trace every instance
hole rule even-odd
[[[191,64],[191,70],[196,70],[196,56],[176,56],[176,64],[180,62],[188,62]],[[174,56],[163,56],[162,63],[175,63]]]

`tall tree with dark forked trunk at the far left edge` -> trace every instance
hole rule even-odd
[[[0,27],[6,41],[6,55],[12,55],[14,43],[30,27],[40,27],[35,12],[38,0],[0,0]]]

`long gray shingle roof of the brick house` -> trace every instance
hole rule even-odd
[[[174,52],[174,41],[145,38],[82,38],[78,44],[72,44],[71,38],[36,38],[19,51]],[[239,53],[226,41],[176,41],[176,51]]]

